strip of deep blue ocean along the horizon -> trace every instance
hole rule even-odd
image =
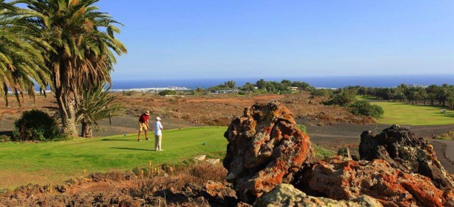
[[[116,80],[112,81],[112,89],[133,89],[133,88],[157,88],[157,87],[186,87],[195,89],[209,88],[223,84],[228,80],[234,80],[237,86],[246,82],[255,83],[257,78],[213,78],[213,79],[166,79],[166,80]],[[310,76],[310,77],[282,77],[263,78],[266,81],[304,81],[317,88],[342,88],[345,86],[366,86],[366,87],[394,87],[402,83],[409,85],[441,85],[444,83],[454,85],[454,74],[452,75],[393,75],[393,76]]]

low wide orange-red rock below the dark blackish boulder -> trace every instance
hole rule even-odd
[[[385,160],[327,158],[315,164],[305,179],[311,190],[335,200],[367,195],[383,206],[454,206],[452,189],[442,191],[428,177],[405,173]]]

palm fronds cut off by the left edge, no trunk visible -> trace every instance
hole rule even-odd
[[[45,87],[49,75],[43,50],[50,49],[28,19],[38,14],[0,0],[0,96],[8,106],[8,91],[19,105],[25,94],[35,97],[36,81]]]

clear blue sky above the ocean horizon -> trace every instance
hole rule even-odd
[[[114,80],[454,74],[453,0],[100,0]]]

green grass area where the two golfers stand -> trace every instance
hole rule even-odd
[[[152,140],[137,142],[137,135],[68,140],[46,143],[0,143],[0,189],[28,183],[62,184],[71,177],[88,173],[126,171],[135,167],[183,164],[206,154],[224,158],[227,127],[201,127],[164,131],[164,151],[154,151]],[[203,143],[206,143],[204,145]]]

